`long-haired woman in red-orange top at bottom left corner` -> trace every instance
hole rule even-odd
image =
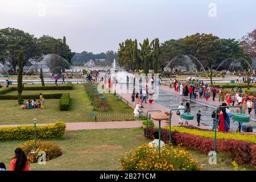
[[[16,148],[14,159],[10,161],[9,171],[31,171],[27,156],[22,148]]]

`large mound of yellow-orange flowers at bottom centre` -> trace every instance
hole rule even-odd
[[[195,171],[199,166],[191,156],[187,151],[166,146],[159,157],[157,148],[144,144],[126,152],[119,160],[127,171]]]

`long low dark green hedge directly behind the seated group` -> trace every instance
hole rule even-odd
[[[48,93],[48,94],[43,94],[44,98],[46,99],[59,99],[61,98],[63,94],[62,93]],[[39,94],[30,94],[30,95],[22,95],[22,99],[39,99]],[[17,100],[18,96],[17,95],[0,95],[0,100]]]

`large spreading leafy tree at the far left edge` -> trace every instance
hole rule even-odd
[[[1,47],[4,47],[5,51]],[[0,30],[0,50],[2,52],[0,59],[10,63],[14,72],[16,72],[21,48],[23,48],[23,67],[31,65],[31,59],[35,59],[36,56],[36,38],[34,35],[16,28],[3,28]]]

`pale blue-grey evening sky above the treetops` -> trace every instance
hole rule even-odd
[[[72,51],[100,53],[117,51],[126,38],[164,42],[204,32],[240,39],[256,28],[255,7],[255,0],[1,0],[0,28],[66,36]]]

